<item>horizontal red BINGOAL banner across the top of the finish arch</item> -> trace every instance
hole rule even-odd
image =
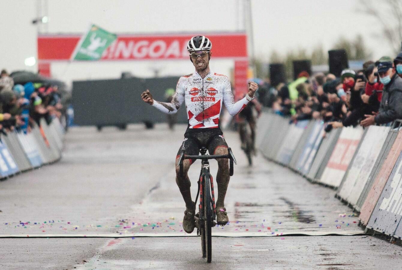
[[[187,42],[193,35],[118,35],[101,60],[188,59]],[[212,42],[212,57],[247,57],[244,33],[206,34]],[[39,61],[70,60],[80,35],[38,36]]]

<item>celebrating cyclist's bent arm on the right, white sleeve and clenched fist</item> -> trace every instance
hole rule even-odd
[[[257,84],[255,82],[249,82],[248,83],[248,94],[242,98],[241,100],[239,100],[238,102],[234,102],[234,97],[233,97],[233,93],[232,93],[232,89],[230,87],[230,82],[229,80],[226,81],[225,84],[225,89],[224,89],[224,104],[226,109],[228,110],[229,114],[232,116],[237,115],[238,113],[240,113],[248,104],[248,102],[250,102],[250,100],[252,100],[252,98],[254,98],[254,93],[257,90]]]

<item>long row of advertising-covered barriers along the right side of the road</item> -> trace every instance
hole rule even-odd
[[[338,188],[367,229],[402,239],[402,120],[325,134],[320,121],[297,127],[278,115],[264,119],[258,136],[265,157]]]

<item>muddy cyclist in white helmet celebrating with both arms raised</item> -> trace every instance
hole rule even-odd
[[[254,99],[254,93],[258,87],[255,82],[249,82],[248,94],[235,103],[228,77],[211,72],[209,69],[209,60],[212,56],[211,48],[212,43],[205,36],[195,36],[189,40],[187,50],[190,53],[190,61],[195,67],[195,72],[180,77],[176,86],[176,93],[171,102],[154,100],[149,90],[141,94],[144,102],[168,114],[176,113],[180,105],[185,101],[189,125],[176,156],[176,183],[186,203],[183,229],[187,233],[191,233],[195,225],[195,203],[191,199],[191,182],[187,174],[194,161],[183,161],[184,176],[182,177],[179,173],[178,164],[180,151],[184,149],[186,155],[198,155],[200,148],[204,146],[208,149],[209,154],[227,155],[228,145],[219,128],[222,103],[225,104],[230,115],[236,115],[246,107],[250,100]],[[230,178],[229,162],[227,159],[218,159],[217,162],[217,223],[225,224],[229,221],[224,204]]]

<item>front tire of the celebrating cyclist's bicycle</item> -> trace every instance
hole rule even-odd
[[[207,253],[207,262],[212,261],[212,208],[211,208],[211,187],[210,187],[209,175],[204,177],[204,200],[203,211],[205,217],[204,229],[205,229],[205,249]]]

